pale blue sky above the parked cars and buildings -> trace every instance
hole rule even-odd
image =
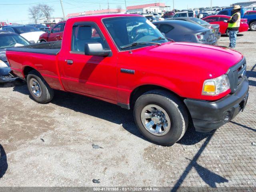
[[[212,0],[212,6],[230,6],[236,2],[245,2],[247,0]],[[88,10],[106,9],[108,0],[62,0],[65,15],[68,13],[83,12]],[[139,2],[139,3],[138,3]],[[155,0],[126,0],[127,6],[154,3]],[[159,1],[156,1],[159,2]],[[161,0],[167,6],[173,8],[172,0]],[[174,0],[176,9],[186,9],[194,7],[208,7],[211,0]],[[18,22],[23,24],[31,23],[28,16],[28,8],[38,3],[46,3],[54,8],[52,17],[62,17],[60,0],[0,0],[0,21]],[[125,8],[124,0],[109,0],[110,8],[117,6]]]

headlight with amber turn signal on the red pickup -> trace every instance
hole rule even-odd
[[[230,83],[226,74],[204,81],[202,95],[218,95],[230,89]]]

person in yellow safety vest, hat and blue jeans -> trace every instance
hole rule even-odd
[[[229,30],[229,40],[230,44],[228,48],[235,48],[236,47],[236,37],[238,34],[238,30],[240,27],[241,22],[241,7],[239,5],[235,5],[234,9],[232,10],[232,17],[230,20],[225,21],[228,22],[228,30]]]

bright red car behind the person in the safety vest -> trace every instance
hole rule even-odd
[[[220,33],[226,34],[227,36],[229,36],[228,23],[224,22],[224,21],[230,20],[230,18],[231,18],[230,16],[226,16],[226,15],[212,15],[212,16],[205,17],[202,20],[204,20],[210,24],[220,25]],[[248,31],[247,19],[241,19],[239,32],[245,32],[245,31]]]

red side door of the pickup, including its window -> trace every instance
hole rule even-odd
[[[101,43],[109,46],[102,32],[92,22],[75,23],[72,28],[71,50],[60,56],[62,82],[66,90],[86,94],[116,103],[117,100],[117,58],[89,56],[84,54],[86,43]]]

